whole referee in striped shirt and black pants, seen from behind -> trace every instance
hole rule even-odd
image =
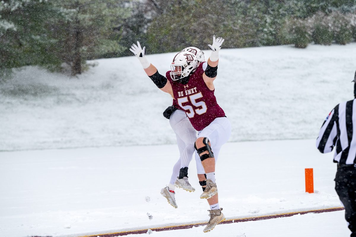
[[[356,72],[353,82],[355,99],[338,104],[329,113],[316,139],[316,147],[321,153],[327,153],[336,145],[335,190],[344,205],[351,237],[356,237]]]

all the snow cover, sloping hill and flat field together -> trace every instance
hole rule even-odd
[[[161,73],[174,55],[147,52]],[[221,50],[215,95],[232,135],[216,173],[227,219],[340,206],[332,154],[320,154],[314,143],[330,110],[353,98],[355,53],[356,43]],[[197,191],[177,190],[178,209],[159,194],[178,159],[162,116],[172,99],[133,56],[90,63],[95,66],[77,77],[26,67],[1,82],[0,236],[80,236],[207,221],[194,162],[189,179]],[[313,194],[304,192],[304,168],[314,168]],[[343,215],[169,236],[347,236]]]

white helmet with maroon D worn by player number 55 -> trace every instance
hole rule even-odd
[[[195,54],[188,51],[179,52],[174,56],[169,75],[173,81],[192,74],[198,68],[198,59]]]

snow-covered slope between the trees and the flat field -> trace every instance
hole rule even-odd
[[[353,98],[355,53],[356,43],[221,50],[215,94],[230,141],[315,139],[329,111]],[[173,55],[148,47],[162,74]],[[89,63],[77,77],[26,67],[0,84],[0,151],[175,143],[162,116],[172,99],[134,56]]]

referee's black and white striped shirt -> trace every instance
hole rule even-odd
[[[356,99],[338,104],[326,117],[316,139],[321,153],[331,152],[336,145],[334,162],[356,164]]]

